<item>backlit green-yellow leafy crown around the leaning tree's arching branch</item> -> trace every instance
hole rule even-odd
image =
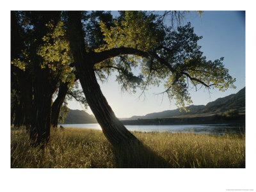
[[[144,92],[147,86],[163,83],[166,88],[163,93],[167,93],[170,100],[175,100],[177,106],[186,110],[186,106],[192,103],[188,92],[190,88],[198,85],[208,89],[218,88],[220,91],[235,88],[236,79],[228,74],[223,58],[207,61],[203,56],[197,44],[202,36],[194,33],[190,23],[173,30],[145,12],[122,12],[120,18],[114,20],[115,26],[107,28],[104,22],[99,24],[106,43],[95,49],[95,52],[131,47],[147,52],[150,58],[146,60],[125,55],[95,65],[97,70],[103,69],[108,74],[111,71],[104,67],[106,65],[122,68],[118,70],[117,81],[125,90],[132,88],[135,91],[140,87]],[[131,67],[138,66],[140,83],[133,82],[127,76],[132,72]]]

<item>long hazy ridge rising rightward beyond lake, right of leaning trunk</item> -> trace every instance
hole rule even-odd
[[[125,118],[123,120],[138,120],[140,119],[151,119],[151,118],[168,118],[173,116],[186,116],[186,115],[196,115],[202,113],[221,113],[228,111],[229,109],[237,109],[239,113],[245,113],[245,87],[241,89],[236,94],[228,95],[227,97],[216,99],[209,102],[206,106],[188,106],[190,110],[186,113],[184,110],[182,112],[179,109],[162,111],[159,113],[148,113],[145,116],[132,116],[131,118]]]

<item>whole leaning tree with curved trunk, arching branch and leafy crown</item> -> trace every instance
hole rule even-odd
[[[117,77],[127,90],[137,86],[163,83],[170,99],[186,109],[191,104],[188,85],[218,88],[234,87],[233,79],[223,65],[223,58],[208,61],[197,45],[201,36],[195,35],[188,23],[177,30],[164,25],[163,20],[147,12],[121,12],[112,26],[99,20],[104,36],[102,44],[90,47],[86,42],[86,20],[81,12],[67,13],[67,37],[79,81],[88,105],[114,147],[137,140],[116,118],[97,83],[98,76],[117,70]],[[134,76],[132,68],[140,68]]]

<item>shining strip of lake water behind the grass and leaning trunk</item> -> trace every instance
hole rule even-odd
[[[63,124],[63,127],[77,127],[83,129],[100,129],[99,124]],[[241,134],[245,132],[244,125],[230,124],[200,124],[200,125],[125,125],[129,131],[168,131],[168,132],[193,132],[203,134]]]

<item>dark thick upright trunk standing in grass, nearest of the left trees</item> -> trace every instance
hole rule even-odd
[[[48,67],[42,68],[42,58],[37,56],[36,49],[38,45],[44,44],[44,37],[48,28],[45,26],[51,21],[56,26],[61,17],[60,11],[52,12],[29,12],[29,17],[33,20],[35,28],[33,38],[36,38],[35,44],[31,45],[31,63],[33,63],[33,118],[30,127],[30,140],[34,145],[44,147],[49,141],[51,130],[51,105],[52,95],[56,91],[58,77]]]

